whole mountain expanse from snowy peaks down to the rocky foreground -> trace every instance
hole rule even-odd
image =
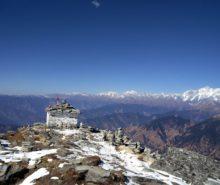
[[[207,87],[183,94],[0,95],[0,132],[45,122],[45,108],[57,96],[81,110],[80,122],[109,130],[121,127],[153,150],[177,146],[220,159],[220,90]]]

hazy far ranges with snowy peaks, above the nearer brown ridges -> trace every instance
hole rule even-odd
[[[82,111],[81,118],[92,119],[114,113],[178,114],[203,121],[220,113],[219,89],[209,87],[182,94],[153,94],[127,91],[100,94],[0,95],[0,124],[24,124],[45,121],[45,107],[56,98],[68,100]]]

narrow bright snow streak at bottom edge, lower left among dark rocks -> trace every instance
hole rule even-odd
[[[40,168],[34,173],[32,173],[30,176],[28,176],[20,185],[33,185],[35,180],[48,175],[49,172],[46,168]]]

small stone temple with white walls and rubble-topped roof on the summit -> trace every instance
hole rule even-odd
[[[77,125],[80,111],[71,106],[67,101],[59,102],[56,105],[49,105],[46,108],[47,127],[72,128]]]

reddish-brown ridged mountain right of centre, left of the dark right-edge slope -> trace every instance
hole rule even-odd
[[[181,117],[166,116],[142,126],[129,126],[125,128],[125,133],[153,150],[163,151],[172,145],[176,136],[182,135],[191,125],[189,120]]]

